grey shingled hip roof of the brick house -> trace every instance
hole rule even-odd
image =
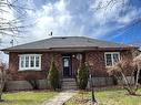
[[[56,36],[27,44],[21,44],[2,51],[53,51],[64,49],[125,49],[133,48],[125,44],[112,43],[84,36]]]

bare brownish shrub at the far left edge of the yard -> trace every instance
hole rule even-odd
[[[7,67],[4,63],[0,62],[0,102],[2,102],[2,93],[7,81]]]

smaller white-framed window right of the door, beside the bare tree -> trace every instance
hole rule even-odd
[[[105,66],[112,66],[115,62],[120,60],[119,52],[105,52],[104,53]]]

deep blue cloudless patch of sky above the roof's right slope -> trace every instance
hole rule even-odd
[[[101,39],[127,44],[132,44],[139,41],[141,42],[141,22],[109,32]]]

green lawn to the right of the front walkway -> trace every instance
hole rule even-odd
[[[138,91],[141,94],[141,90]],[[128,95],[123,90],[111,90],[95,92],[99,105],[141,105],[141,96]],[[90,92],[80,92],[66,103],[66,105],[87,105],[91,99]],[[84,102],[85,101],[85,102]]]

